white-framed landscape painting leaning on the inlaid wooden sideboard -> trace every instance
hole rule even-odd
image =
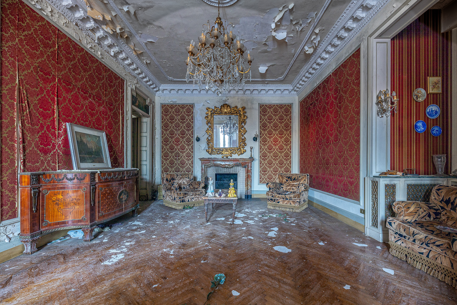
[[[73,169],[110,169],[111,159],[104,131],[66,123]],[[78,139],[79,137],[79,139]],[[84,154],[84,152],[86,152]]]

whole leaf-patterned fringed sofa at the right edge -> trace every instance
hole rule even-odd
[[[437,185],[430,202],[396,201],[396,217],[389,217],[389,252],[457,288],[457,187]]]

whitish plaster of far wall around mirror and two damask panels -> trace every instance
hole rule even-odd
[[[259,104],[276,104],[286,103],[292,104],[292,172],[298,173],[298,100],[296,96],[283,97],[280,100],[277,97],[223,97],[223,96],[156,96],[155,98],[155,184],[160,183],[161,173],[161,104],[194,104],[194,177],[200,181],[201,179],[201,163],[198,158],[220,158],[220,155],[209,155],[207,153],[207,124],[205,120],[206,108],[221,107],[223,104],[228,104],[231,107],[246,107],[246,152],[243,155],[233,155],[233,158],[249,158],[250,146],[253,146],[252,156],[255,158],[252,163],[252,191],[255,193],[265,193],[268,188],[265,184],[259,183],[259,140],[253,141],[254,134],[259,133]],[[195,138],[200,138],[200,142],[195,141]],[[230,159],[230,158],[229,158]]]

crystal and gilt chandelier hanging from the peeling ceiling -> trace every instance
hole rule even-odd
[[[198,37],[198,41],[198,49],[193,40],[186,47],[189,53],[186,60],[187,82],[192,80],[200,89],[211,90],[218,96],[235,87],[244,88],[244,81],[248,77],[251,79],[251,63],[254,58],[249,51],[244,58],[243,54],[247,48],[238,36],[232,31],[228,32],[223,26],[219,7],[218,17],[213,26],[210,28],[208,20],[208,23],[203,25],[202,35]]]

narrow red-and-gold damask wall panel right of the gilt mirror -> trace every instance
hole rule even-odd
[[[260,104],[260,183],[292,172],[292,105]]]

